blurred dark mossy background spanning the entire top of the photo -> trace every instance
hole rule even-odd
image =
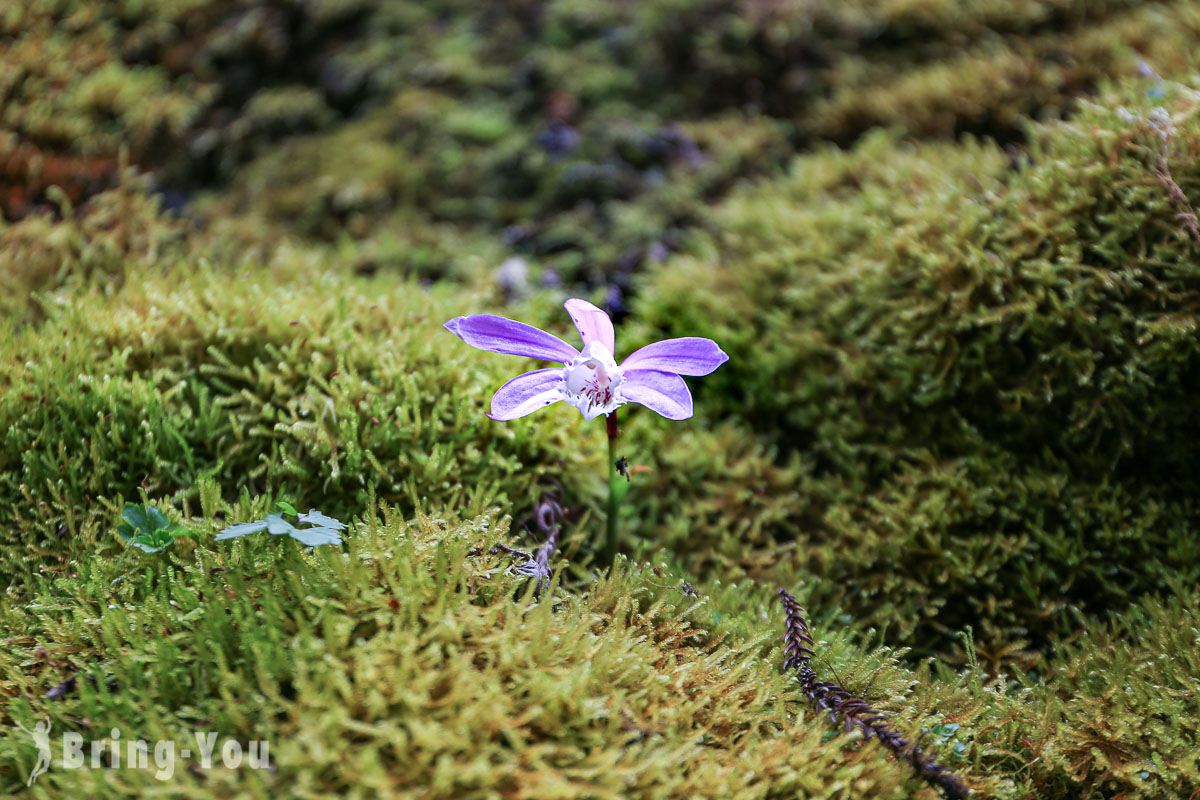
[[[10,217],[52,186],[74,203],[110,187],[124,151],[168,205],[248,217],[251,239],[349,235],[376,242],[364,269],[445,278],[457,251],[420,231],[482,230],[550,281],[625,291],[704,203],[797,150],[880,125],[1019,142],[1026,116],[1105,79],[1194,67],[1200,17],[1184,1],[40,0],[0,31]]]

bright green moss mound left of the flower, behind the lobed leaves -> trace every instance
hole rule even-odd
[[[368,491],[475,509],[528,507],[551,480],[589,495],[575,465],[599,471],[599,449],[566,445],[601,432],[566,415],[488,422],[484,404],[520,360],[458,347],[440,330],[456,308],[445,293],[286,272],[233,293],[194,264],[142,276],[113,305],[64,296],[4,343],[8,569],[42,563],[35,551],[78,558],[89,521],[138,491],[194,498],[202,474],[336,512]]]

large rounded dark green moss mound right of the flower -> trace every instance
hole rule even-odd
[[[792,459],[768,536],[857,613],[1044,640],[1196,577],[1196,109],[1146,80],[1016,164],[883,136],[804,157],[647,281],[648,324],[731,354],[702,405]]]

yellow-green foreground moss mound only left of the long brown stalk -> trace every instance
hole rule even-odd
[[[556,602],[532,606],[528,587],[486,554],[504,534],[491,517],[368,513],[348,558],[260,537],[202,543],[186,566],[91,561],[40,588],[55,613],[0,610],[4,636],[17,637],[0,656],[6,691],[55,682],[61,673],[46,660],[65,656],[83,673],[62,702],[20,699],[5,721],[29,727],[49,712],[58,732],[86,716],[88,730],[119,728],[124,739],[186,746],[199,726],[270,741],[276,771],[181,765],[172,790],[192,796],[553,787],[560,796],[716,798],[829,784],[910,796],[905,770],[877,753],[864,768],[823,744],[824,726],[800,711],[772,664],[776,646],[714,638],[703,603],[659,596],[641,571],[622,570],[586,595],[558,588]],[[114,589],[118,570],[126,577]],[[847,643],[829,655],[857,657]],[[872,697],[906,684],[887,652],[862,666],[872,670]],[[4,734],[0,784],[24,780],[32,758],[24,734]],[[152,768],[52,769],[37,790],[154,786]]]

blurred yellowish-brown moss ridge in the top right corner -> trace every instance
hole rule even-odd
[[[1050,19],[1061,13],[1070,20],[1064,25],[1070,30],[1067,36],[1063,26],[1043,20],[1025,35],[994,38],[983,32],[988,22],[973,20],[983,38],[966,50],[950,42],[971,36],[973,26],[956,20],[953,31],[942,31],[948,41],[925,44],[938,58],[924,64],[893,54],[864,64],[857,53],[839,54],[829,76],[833,91],[805,115],[804,131],[836,142],[876,126],[901,127],[920,137],[967,131],[1014,139],[1025,119],[1064,115],[1081,94],[1116,76],[1134,74],[1139,64],[1165,74],[1196,66],[1188,55],[1189,43],[1200,34],[1194,8],[1146,4],[1088,20],[1088,6],[1096,4],[1043,10]],[[961,23],[966,29],[958,28]]]

